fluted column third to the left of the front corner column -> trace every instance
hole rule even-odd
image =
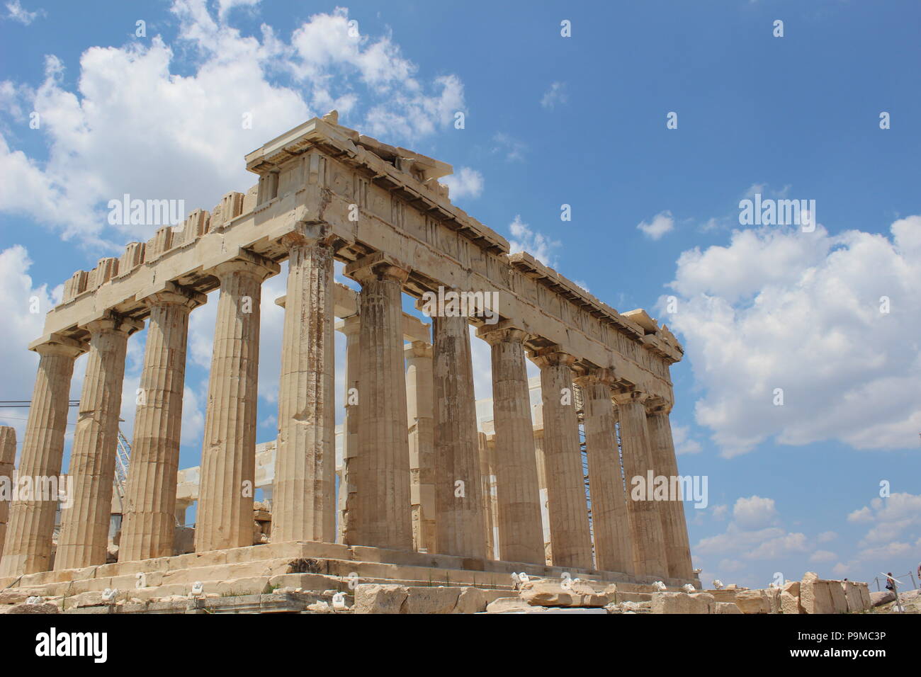
[[[56,571],[106,563],[124,356],[128,336],[143,327],[113,313],[87,323],[87,373],[68,469],[73,505],[61,511]]]

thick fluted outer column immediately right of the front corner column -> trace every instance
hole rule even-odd
[[[409,271],[380,254],[345,266],[361,284],[358,455],[348,481],[356,500],[348,509],[345,543],[413,549],[402,285]]]

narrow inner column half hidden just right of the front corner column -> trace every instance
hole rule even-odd
[[[349,512],[355,507],[355,484],[349,479],[349,467],[358,455],[358,373],[359,352],[358,338],[361,328],[361,316],[350,315],[336,323],[336,329],[345,334],[345,391],[343,402],[345,417],[343,420],[343,467],[339,476],[339,522],[337,542],[344,543],[348,531]]]

